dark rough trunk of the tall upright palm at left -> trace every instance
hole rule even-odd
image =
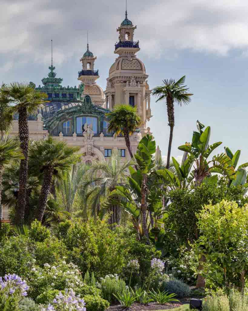
[[[20,147],[23,151],[24,159],[20,161],[19,193],[14,222],[15,225],[22,225],[24,221],[24,211],[26,207],[26,191],[28,180],[29,125],[26,107],[19,108],[18,112]]]

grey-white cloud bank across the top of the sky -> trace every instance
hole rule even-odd
[[[0,54],[15,63],[29,59],[47,64],[53,39],[54,58],[61,64],[84,53],[89,30],[91,50],[99,57],[112,56],[124,6],[122,0],[2,0]],[[135,38],[142,52],[151,57],[174,58],[183,49],[223,56],[248,49],[245,0],[137,0],[128,11],[138,25]]]

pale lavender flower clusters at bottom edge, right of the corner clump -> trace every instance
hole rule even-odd
[[[76,296],[73,290],[68,291],[66,289],[64,295],[60,292],[52,304],[42,308],[42,311],[86,311],[86,308],[85,302],[80,298],[80,295]]]

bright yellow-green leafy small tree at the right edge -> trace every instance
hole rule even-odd
[[[231,283],[243,290],[248,276],[248,206],[221,201],[206,205],[197,218],[200,236],[195,250],[206,258],[205,275],[217,286]]]

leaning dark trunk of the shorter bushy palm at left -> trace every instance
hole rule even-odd
[[[42,188],[39,196],[38,202],[38,209],[36,211],[36,219],[42,222],[44,212],[46,210],[47,199],[50,192],[50,187],[52,183],[52,175],[53,175],[53,168],[49,167],[44,172],[44,179],[42,183]]]

